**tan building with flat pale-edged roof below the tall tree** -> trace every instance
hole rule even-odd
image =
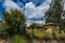
[[[43,26],[46,27],[47,31],[60,30],[60,25],[58,24],[48,23]]]

